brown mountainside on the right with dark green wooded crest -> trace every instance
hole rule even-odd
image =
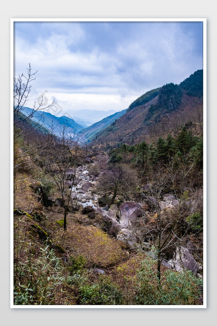
[[[151,141],[164,134],[176,134],[178,128],[189,123],[194,123],[196,128],[202,123],[202,104],[201,69],[179,85],[169,83],[137,98],[122,117],[97,135],[92,145]]]

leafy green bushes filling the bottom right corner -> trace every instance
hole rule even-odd
[[[182,273],[167,270],[157,280],[157,261],[147,258],[142,262],[142,269],[137,274],[137,293],[135,304],[144,305],[183,305],[198,304],[203,281],[191,271]]]

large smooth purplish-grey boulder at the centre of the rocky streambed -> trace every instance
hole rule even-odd
[[[142,204],[135,201],[126,201],[119,206],[120,221],[133,221],[142,216]]]

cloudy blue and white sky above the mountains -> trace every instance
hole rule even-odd
[[[202,22],[15,22],[14,74],[66,110],[116,110],[203,68]],[[45,92],[47,91],[47,92]]]

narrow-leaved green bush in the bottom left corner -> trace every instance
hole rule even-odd
[[[63,281],[63,267],[49,245],[40,249],[38,259],[30,254],[24,263],[14,265],[15,305],[55,304],[55,290]]]

